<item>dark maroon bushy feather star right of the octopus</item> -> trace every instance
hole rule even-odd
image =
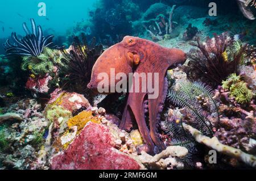
[[[226,33],[219,36],[214,34],[214,38],[208,37],[206,43],[200,43],[197,39],[197,43],[192,45],[199,50],[189,55],[191,61],[185,71],[190,79],[200,78],[212,86],[221,85],[229,74],[237,73],[237,66],[247,56],[245,46],[237,42],[230,43]]]

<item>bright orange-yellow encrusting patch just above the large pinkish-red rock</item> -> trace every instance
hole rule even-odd
[[[92,115],[92,111],[82,111],[79,115],[68,120],[68,128],[72,129],[72,127],[76,126],[77,132],[80,132],[89,121],[97,124],[101,123],[100,119]]]

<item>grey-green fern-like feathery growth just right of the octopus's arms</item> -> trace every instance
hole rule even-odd
[[[213,99],[210,87],[200,82],[180,83],[180,89],[171,89],[167,98],[177,106],[185,108],[195,127],[207,135],[213,135],[212,124],[207,116],[218,117],[218,104]]]

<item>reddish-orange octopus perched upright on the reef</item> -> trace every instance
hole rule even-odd
[[[110,75],[111,69],[115,70],[115,74],[125,73],[127,77],[129,77],[129,73],[152,73],[154,79],[155,73],[158,73],[159,95],[149,99],[152,91],[148,90],[147,87],[146,91],[129,91],[122,120],[119,124],[119,128],[130,131],[134,123],[137,123],[145,142],[144,150],[147,153],[156,154],[166,149],[166,145],[158,136],[158,125],[168,92],[167,71],[178,64],[183,64],[185,60],[187,60],[187,56],[183,50],[164,48],[146,39],[126,36],[120,43],[105,50],[97,59],[92,69],[88,88],[97,91],[98,84],[102,81],[102,79],[98,79],[98,75],[100,73]],[[144,79],[148,79],[148,77],[139,79],[140,90],[142,90]],[[110,78],[108,81],[111,82]],[[118,81],[120,80],[115,79],[115,83]],[[134,83],[135,76],[132,77],[132,81]],[[155,81],[151,82],[152,87],[156,86]],[[104,86],[108,86],[109,89],[113,88],[112,83]],[[146,117],[148,117],[147,120]]]

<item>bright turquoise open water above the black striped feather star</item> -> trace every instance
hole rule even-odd
[[[39,16],[38,4],[46,3],[46,16]],[[97,0],[12,0],[1,2],[0,5],[0,38],[8,37],[11,32],[23,35],[22,23],[27,22],[30,27],[30,18],[37,24],[54,29],[58,35],[64,35],[68,28],[76,22],[88,19],[88,12],[94,8]],[[4,28],[4,31],[3,31]]]

